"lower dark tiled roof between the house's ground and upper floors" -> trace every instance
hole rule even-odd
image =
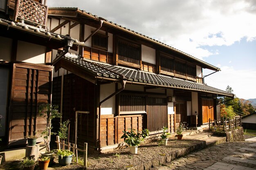
[[[194,91],[204,91],[209,93],[216,93],[219,95],[234,96],[232,93],[222,91],[205,84],[190,82],[183,79],[177,79],[155,73],[145,71],[137,71],[132,68],[125,68],[121,66],[114,66],[110,64],[94,62],[92,60],[82,60],[76,57],[64,56],[61,60],[65,60],[74,66],[83,68],[85,71],[92,73],[99,77],[108,77],[113,79],[120,79],[124,77],[130,82],[146,83],[150,85],[166,86],[169,88],[181,88]]]

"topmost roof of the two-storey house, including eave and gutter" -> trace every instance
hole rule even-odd
[[[122,31],[126,31],[126,32],[128,32],[128,33],[131,33],[132,35],[137,35],[137,36],[139,36],[140,38],[143,38],[143,39],[145,39],[145,40],[147,40],[147,41],[150,41],[150,42],[153,42],[153,43],[155,43],[155,44],[164,46],[164,47],[166,47],[166,48],[168,48],[168,49],[171,49],[171,50],[173,50],[173,51],[177,51],[178,53],[181,53],[182,55],[185,55],[186,57],[189,57],[189,58],[191,58],[191,59],[193,59],[193,60],[196,60],[196,61],[198,61],[198,62],[200,62],[200,63],[202,63],[202,64],[207,65],[207,66],[210,67],[211,69],[220,71],[220,68],[218,68],[218,67],[216,67],[216,66],[213,66],[213,65],[211,65],[211,64],[209,64],[209,63],[207,63],[207,62],[204,62],[204,61],[202,61],[202,60],[200,60],[200,59],[198,59],[198,58],[196,58],[196,57],[193,57],[192,55],[189,55],[189,54],[187,54],[187,53],[184,53],[183,51],[180,51],[180,50],[178,50],[178,49],[175,49],[175,48],[173,48],[172,46],[169,46],[168,44],[165,44],[165,43],[163,43],[163,42],[160,42],[160,41],[158,41],[158,40],[155,40],[155,39],[153,39],[153,38],[150,38],[150,37],[148,37],[148,36],[146,36],[146,35],[144,35],[144,34],[142,34],[142,33],[138,33],[138,32],[136,32],[136,31],[134,31],[134,30],[128,29],[128,28],[126,28],[126,27],[124,27],[124,26],[122,26],[122,25],[119,25],[119,24],[117,24],[117,23],[114,23],[114,22],[112,22],[112,21],[109,21],[109,20],[107,20],[107,19],[105,19],[105,18],[99,17],[98,15],[92,15],[92,13],[86,12],[85,10],[80,10],[79,8],[76,8],[76,7],[49,7],[49,15],[52,14],[50,10],[73,10],[73,11],[76,11],[77,13],[79,13],[80,15],[83,15],[83,16],[88,17],[88,18],[92,18],[93,20],[103,20],[103,21],[104,21],[103,24],[108,24],[109,26],[112,26],[112,27],[114,27],[115,29],[121,29]],[[58,15],[58,13],[57,13],[56,15]]]

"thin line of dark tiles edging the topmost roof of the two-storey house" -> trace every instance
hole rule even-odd
[[[99,17],[98,15],[93,15],[92,13],[86,12],[85,10],[80,10],[79,8],[76,8],[76,7],[50,7],[49,9],[53,9],[53,10],[54,10],[54,9],[60,9],[60,10],[63,10],[63,9],[64,9],[64,10],[79,10],[79,11],[82,11],[83,13],[87,13],[88,15],[93,16],[95,19],[104,20],[105,22],[108,22],[108,23],[113,24],[113,25],[115,25],[115,26],[117,26],[117,27],[120,27],[120,28],[122,28],[122,29],[126,29],[127,31],[130,31],[132,34],[136,34],[136,35],[143,36],[144,38],[147,38],[148,40],[152,40],[153,42],[160,43],[160,44],[162,44],[162,45],[164,45],[164,46],[167,46],[167,47],[169,47],[169,48],[171,48],[171,49],[173,49],[173,50],[179,51],[180,53],[183,53],[183,54],[185,54],[185,55],[187,55],[187,56],[193,58],[193,60],[198,60],[199,62],[201,62],[201,63],[203,63],[203,64],[206,64],[206,65],[208,65],[208,66],[211,66],[212,68],[215,68],[215,69],[217,69],[217,70],[220,70],[220,68],[218,68],[218,67],[216,67],[216,66],[213,66],[213,65],[211,65],[211,64],[209,64],[209,63],[207,63],[207,62],[204,62],[203,60],[200,60],[200,59],[198,59],[198,58],[196,58],[196,57],[194,57],[194,56],[192,56],[192,55],[189,55],[188,53],[185,53],[185,52],[183,52],[183,51],[180,51],[180,50],[178,50],[178,49],[175,49],[175,48],[173,48],[172,46],[169,46],[168,44],[165,44],[165,43],[163,43],[163,42],[160,42],[160,41],[158,41],[158,40],[155,40],[155,39],[153,39],[153,38],[150,38],[150,37],[148,37],[147,35],[144,35],[144,34],[142,34],[142,33],[139,33],[139,32],[137,32],[137,31],[134,31],[134,30],[132,30],[132,29],[128,29],[127,27],[124,27],[124,26],[119,25],[119,24],[117,24],[117,23],[115,23],[115,22],[109,21],[109,20],[107,20],[107,19],[105,19],[105,18]]]

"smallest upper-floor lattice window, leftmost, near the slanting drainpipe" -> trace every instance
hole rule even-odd
[[[108,51],[108,36],[99,33],[92,35],[92,47]]]

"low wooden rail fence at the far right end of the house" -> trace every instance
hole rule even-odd
[[[241,116],[223,118],[219,120],[209,119],[209,130],[227,132],[241,127]]]

